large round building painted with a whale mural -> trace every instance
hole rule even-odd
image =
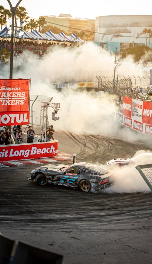
[[[95,42],[100,46],[105,43],[119,46],[119,52],[136,45],[152,48],[151,34],[152,15],[98,16],[95,19]]]

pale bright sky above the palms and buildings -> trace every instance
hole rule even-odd
[[[11,0],[12,6],[16,6],[17,0]],[[7,0],[1,0],[0,5],[9,9]],[[65,1],[50,1],[43,0],[39,2],[36,0],[22,0],[19,4],[26,8],[28,16],[38,19],[39,16],[59,16],[60,13],[70,14],[73,17],[95,19],[97,16],[111,16],[111,15],[151,15],[151,1],[147,0],[146,4],[143,2],[128,0],[122,2],[117,1],[99,1],[86,2],[77,0],[71,2]]]

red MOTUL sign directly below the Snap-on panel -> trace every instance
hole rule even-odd
[[[27,125],[29,124],[29,111],[0,112],[0,125]]]

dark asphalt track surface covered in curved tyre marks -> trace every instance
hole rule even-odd
[[[58,132],[59,151],[78,161],[105,163],[152,150],[101,135]],[[65,161],[65,164],[70,164]],[[151,264],[152,193],[83,193],[37,186],[27,180],[35,165],[0,168],[0,232],[64,256],[64,264]]]

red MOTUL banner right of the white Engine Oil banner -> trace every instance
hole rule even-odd
[[[152,102],[143,101],[143,118],[142,122],[152,125]]]

